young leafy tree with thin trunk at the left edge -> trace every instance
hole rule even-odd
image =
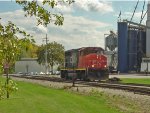
[[[23,36],[23,39],[18,38],[18,34]],[[25,31],[21,31],[12,22],[7,25],[0,24],[0,67],[5,69],[7,74],[6,89],[7,98],[9,98],[9,70],[14,65],[15,61],[20,58],[21,50],[26,48],[28,43],[33,41]]]

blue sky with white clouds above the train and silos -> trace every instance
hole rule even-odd
[[[48,36],[48,42],[56,41],[65,47],[65,50],[80,47],[104,48],[104,34],[110,30],[117,32],[118,15],[121,19],[131,19],[137,1],[108,1],[108,0],[75,0],[71,5],[58,5],[55,12],[64,16],[63,26],[49,24],[47,27],[37,26],[34,17],[24,17],[22,7],[13,0],[0,1],[0,22],[6,24],[12,21],[21,30],[31,34],[36,44],[41,45]],[[140,23],[144,1],[140,1],[133,17],[133,21]],[[46,7],[50,10],[48,7]],[[144,8],[144,13],[147,9]],[[51,11],[51,10],[50,10]],[[146,16],[142,24],[146,24]]]

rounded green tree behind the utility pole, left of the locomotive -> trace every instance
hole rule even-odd
[[[51,67],[53,72],[54,65],[61,65],[64,62],[64,46],[57,43],[51,42],[47,45],[42,45],[37,51],[38,63],[45,65],[45,48],[47,46],[47,63]]]

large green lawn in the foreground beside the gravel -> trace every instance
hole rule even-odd
[[[17,84],[19,90],[10,95],[10,99],[0,100],[0,113],[121,113],[110,106],[104,97],[81,95],[25,82]]]

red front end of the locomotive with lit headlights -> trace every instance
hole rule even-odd
[[[107,57],[103,53],[104,50],[99,47],[88,47],[80,50],[78,67],[86,69],[86,79],[108,79]]]

